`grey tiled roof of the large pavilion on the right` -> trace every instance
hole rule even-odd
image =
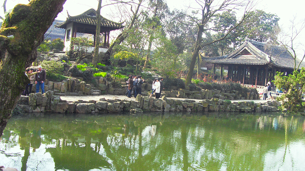
[[[242,55],[243,51],[250,54]],[[200,54],[201,55],[201,54]],[[284,47],[272,46],[262,42],[247,40],[238,49],[220,57],[203,57],[203,61],[215,64],[265,65],[272,64],[281,68],[293,69],[294,60]],[[297,60],[298,64],[299,60]],[[301,63],[300,67],[305,67]]]

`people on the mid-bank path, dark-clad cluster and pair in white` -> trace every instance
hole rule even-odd
[[[139,76],[130,75],[126,83],[128,84],[127,93],[126,93],[127,97],[131,98],[132,94],[134,95],[135,98],[139,94],[142,95],[142,84],[144,83],[144,79],[142,79],[141,75]],[[160,79],[155,78],[153,81],[152,92],[149,95],[149,97],[153,96],[153,94],[155,93],[156,99],[159,99],[162,90],[164,90],[163,78],[162,77]]]

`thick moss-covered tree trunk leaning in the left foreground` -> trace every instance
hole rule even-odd
[[[0,136],[29,79],[26,67],[37,57],[44,33],[63,10],[66,0],[32,0],[18,4],[0,29]]]

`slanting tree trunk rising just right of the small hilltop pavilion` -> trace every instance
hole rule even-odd
[[[143,0],[140,0],[140,1],[139,1],[139,4],[138,4],[138,6],[137,6],[137,9],[136,9],[136,11],[133,13],[133,17],[132,17],[132,19],[131,19],[131,22],[130,22],[128,28],[127,28],[126,30],[124,30],[123,32],[121,32],[121,33],[116,37],[116,39],[115,39],[115,41],[113,42],[113,44],[109,47],[109,49],[108,49],[107,52],[105,53],[105,59],[106,59],[106,60],[109,60],[109,59],[110,59],[110,56],[111,56],[112,53],[113,53],[113,48],[116,47],[117,45],[121,44],[121,42],[123,42],[123,41],[126,39],[126,37],[128,36],[127,31],[130,30],[130,29],[133,27],[133,25],[134,25],[136,19],[138,18],[138,12],[139,12],[139,9],[140,9],[140,7],[141,7],[142,2],[143,2]]]

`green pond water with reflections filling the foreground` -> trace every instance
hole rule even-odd
[[[18,170],[305,170],[305,120],[280,113],[27,114],[0,165]]]

